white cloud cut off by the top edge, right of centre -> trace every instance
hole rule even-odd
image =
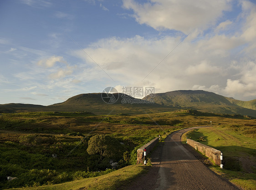
[[[149,0],[139,4],[123,0],[125,9],[132,9],[139,24],[154,29],[175,29],[188,34],[195,29],[207,29],[215,24],[224,10],[230,10],[230,0]]]

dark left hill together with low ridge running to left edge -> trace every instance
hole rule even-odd
[[[129,114],[136,115],[141,113],[169,112],[177,108],[163,107],[156,103],[143,103],[141,99],[125,95],[125,98],[132,102],[122,102],[123,94],[115,93],[114,97],[117,102],[113,104],[106,103],[102,100],[104,93],[87,93],[70,97],[65,102],[56,103],[50,106],[32,105],[32,104],[2,104],[0,113],[13,112],[93,112],[95,114]]]

